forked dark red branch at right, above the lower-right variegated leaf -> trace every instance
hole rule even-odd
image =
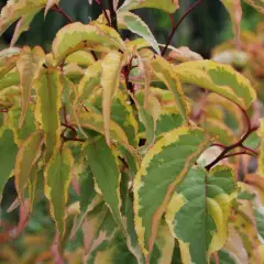
[[[210,164],[208,164],[206,166],[207,170],[210,170],[210,168],[212,166],[215,166],[221,160],[227,158],[227,157],[237,156],[237,155],[244,155],[244,154],[246,154],[246,155],[254,155],[254,156],[257,155],[256,151],[251,150],[250,147],[244,146],[243,143],[249,138],[249,135],[252,132],[256,131],[258,128],[256,128],[256,127],[252,128],[249,114],[243,109],[241,109],[241,111],[243,112],[243,114],[245,117],[245,120],[246,120],[246,127],[248,127],[246,132],[244,133],[244,135],[237,143],[234,143],[232,145],[226,146],[226,145],[222,145],[222,144],[213,144],[213,145],[218,145],[218,146],[222,147],[223,151],[220,153],[220,155],[215,161],[212,161]],[[230,151],[234,150],[235,147],[242,147],[243,151],[228,154]]]

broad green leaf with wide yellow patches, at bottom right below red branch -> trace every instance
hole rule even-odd
[[[234,172],[227,166],[217,166],[209,174],[194,167],[176,187],[166,221],[179,241],[184,264],[207,263],[224,245],[235,195]]]

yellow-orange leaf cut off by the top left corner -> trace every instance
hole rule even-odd
[[[38,12],[46,0],[9,0],[0,14],[0,35],[19,18],[29,12]]]

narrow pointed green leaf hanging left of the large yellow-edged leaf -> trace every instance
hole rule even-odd
[[[109,147],[105,138],[88,143],[85,147],[88,163],[91,167],[95,180],[108,205],[114,220],[123,230],[120,213],[120,180],[121,174],[118,167],[118,153]]]

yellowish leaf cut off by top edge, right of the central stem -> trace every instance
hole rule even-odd
[[[162,9],[165,12],[174,13],[178,8],[178,0],[125,0],[124,3],[119,8],[119,12],[130,11],[140,8],[155,8]]]

